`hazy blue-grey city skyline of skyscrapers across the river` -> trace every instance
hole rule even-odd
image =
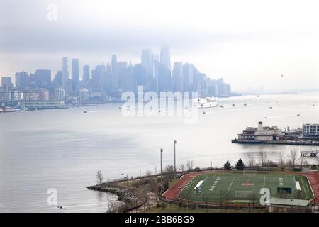
[[[37,69],[30,74],[16,72],[14,79],[2,77],[0,101],[20,107],[20,102],[26,104],[26,100],[32,105],[37,101],[64,101],[71,105],[119,101],[123,92],[137,94],[141,86],[146,92],[156,92],[157,95],[161,92],[197,92],[199,97],[238,95],[223,78],[211,79],[194,64],[172,64],[167,45],[160,48],[159,54],[142,49],[137,64],[119,61],[115,54],[110,62],[99,65],[84,62],[81,68],[79,62],[78,58],[62,57],[60,69],[56,72]]]

